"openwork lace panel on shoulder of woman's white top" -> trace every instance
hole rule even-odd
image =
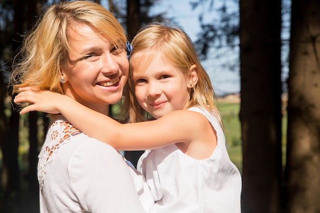
[[[75,135],[81,132],[69,122],[56,121],[51,124],[47,137],[39,154],[38,180],[42,190],[44,175],[47,172],[48,164],[52,162],[54,154],[61,149],[63,144],[68,143]]]

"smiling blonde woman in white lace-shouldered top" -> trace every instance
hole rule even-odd
[[[102,6],[87,1],[50,6],[14,60],[13,92],[22,86],[47,89],[107,115],[127,80],[125,47],[121,25]],[[149,212],[154,203],[143,176],[115,149],[62,115],[52,116],[38,180],[40,212]]]

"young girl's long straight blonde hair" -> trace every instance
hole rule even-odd
[[[152,23],[145,26],[132,40],[128,84],[124,93],[124,114],[127,115],[129,122],[146,121],[146,112],[134,96],[132,71],[135,67],[147,68],[156,54],[164,56],[169,63],[177,67],[186,76],[186,79],[191,75],[190,67],[196,65],[199,79],[191,89],[191,97],[185,109],[193,106],[203,107],[213,112],[222,126],[221,116],[215,105],[216,96],[210,78],[200,63],[191,39],[178,27],[169,27],[163,23]]]

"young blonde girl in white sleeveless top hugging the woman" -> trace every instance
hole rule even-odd
[[[138,170],[155,199],[154,212],[241,211],[241,176],[226,151],[214,91],[182,30],[154,24],[134,37],[124,101],[130,124],[61,94],[30,89],[21,88],[15,100],[34,103],[21,113],[62,113],[117,150],[147,149]],[[156,120],[142,122],[145,111]]]

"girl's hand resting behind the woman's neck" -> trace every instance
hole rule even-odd
[[[20,87],[21,91],[14,98],[15,103],[29,102],[33,103],[20,111],[20,114],[25,114],[30,111],[41,111],[57,114],[60,111],[57,109],[57,104],[63,102],[63,98],[67,98],[63,94],[52,92],[49,90],[39,90],[33,87]]]

